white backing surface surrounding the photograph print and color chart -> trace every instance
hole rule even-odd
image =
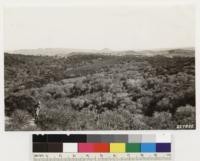
[[[83,2],[84,1],[84,2]],[[40,132],[4,132],[4,98],[3,98],[3,5],[5,4],[18,4],[26,3],[26,4],[69,4],[69,3],[95,3],[95,4],[120,4],[120,3],[166,3],[166,0],[138,0],[138,1],[119,1],[119,0],[5,0],[0,1],[0,160],[2,161],[31,161],[31,134],[32,133],[40,133]],[[174,3],[174,0],[169,0],[167,3]],[[183,3],[183,1],[179,0],[178,2]],[[185,1],[185,2],[195,2],[195,1]],[[200,161],[200,110],[199,110],[199,72],[200,72],[200,1],[195,2],[197,6],[197,14],[196,14],[196,121],[197,121],[197,129],[192,131],[115,131],[115,132],[107,132],[107,133],[171,133],[174,138],[174,160],[175,161]],[[48,133],[48,132],[45,132]],[[49,132],[54,133],[54,132]],[[59,133],[59,132],[55,132]],[[66,132],[62,132],[66,133]],[[71,132],[75,133],[75,132]],[[76,132],[77,133],[77,132]],[[104,132],[89,132],[82,131],[78,133],[105,133]]]

